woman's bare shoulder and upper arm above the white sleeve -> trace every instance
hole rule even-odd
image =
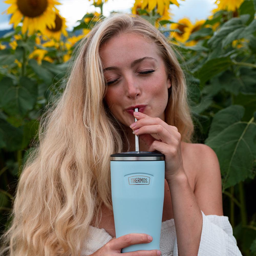
[[[222,215],[221,174],[215,152],[204,144],[182,143],[182,157],[200,209],[206,215]]]

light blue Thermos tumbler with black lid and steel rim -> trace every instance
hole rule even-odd
[[[122,252],[159,250],[164,202],[164,155],[125,152],[111,155],[111,192],[116,237],[146,233],[151,243],[135,244]]]

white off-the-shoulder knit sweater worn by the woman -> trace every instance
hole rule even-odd
[[[198,256],[242,256],[233,237],[232,227],[228,217],[203,216],[203,226]],[[90,226],[89,237],[84,242],[81,256],[88,256],[97,251],[112,237],[104,229]],[[178,256],[176,230],[174,220],[162,222],[160,236],[160,251],[162,256]]]

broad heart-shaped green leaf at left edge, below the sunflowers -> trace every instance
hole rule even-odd
[[[10,115],[24,116],[33,109],[37,99],[37,84],[27,77],[22,77],[15,86],[12,79],[3,78],[0,87],[0,106]]]

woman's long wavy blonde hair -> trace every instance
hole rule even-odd
[[[82,40],[66,89],[39,131],[39,146],[26,162],[2,237],[11,256],[79,255],[102,204],[111,208],[110,154],[124,146],[122,125],[105,103],[100,46],[123,32],[141,34],[159,47],[172,82],[166,121],[190,140],[193,124],[186,83],[164,36],[140,17],[115,14]]]

